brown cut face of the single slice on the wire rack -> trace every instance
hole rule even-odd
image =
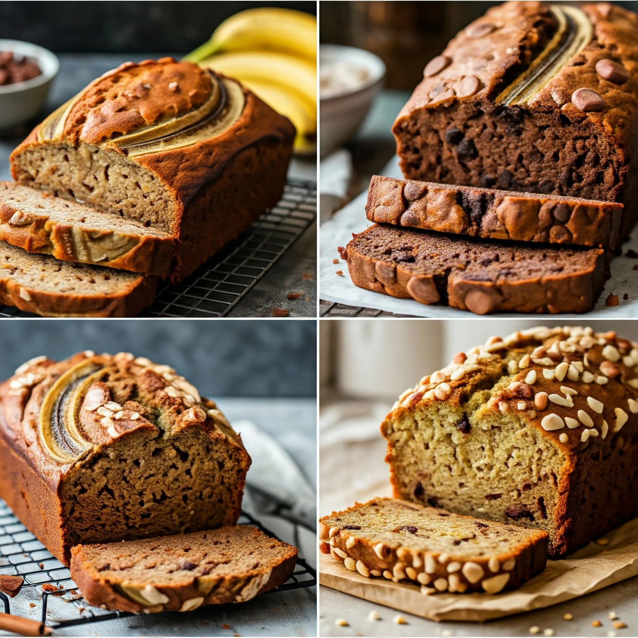
[[[269,572],[297,552],[248,525],[188,535],[82,545],[84,568],[112,584],[179,586],[193,578],[247,577]]]

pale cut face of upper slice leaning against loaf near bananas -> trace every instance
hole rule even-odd
[[[65,225],[165,237],[165,233],[154,228],[147,228],[135,219],[123,218],[119,214],[98,212],[89,206],[69,202],[59,197],[47,197],[41,191],[13,182],[0,184],[0,204],[6,204],[29,216],[46,217]]]

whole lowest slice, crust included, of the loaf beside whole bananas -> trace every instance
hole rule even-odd
[[[47,317],[136,316],[158,279],[32,255],[0,241],[0,304]]]

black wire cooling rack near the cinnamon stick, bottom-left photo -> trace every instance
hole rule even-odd
[[[253,525],[276,538],[247,512],[242,512],[239,524]],[[296,533],[295,526],[295,537]],[[20,523],[3,500],[0,500],[0,574],[24,578],[17,597],[8,598],[0,591],[4,613],[40,619],[54,630],[133,615],[89,605],[71,580],[68,568]],[[316,583],[316,571],[303,558],[297,558],[297,566],[290,579],[267,593],[313,587]]]

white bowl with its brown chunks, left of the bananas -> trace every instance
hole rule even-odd
[[[25,124],[47,99],[60,63],[49,50],[19,40],[0,40],[0,130]]]

